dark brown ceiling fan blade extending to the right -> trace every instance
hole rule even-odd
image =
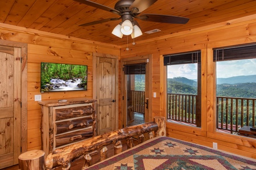
[[[149,22],[157,23],[169,23],[169,24],[185,24],[188,22],[189,18],[184,18],[180,16],[171,16],[171,15],[159,15],[159,14],[142,14],[137,16],[141,20],[146,20]]]

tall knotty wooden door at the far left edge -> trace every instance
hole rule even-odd
[[[0,169],[20,155],[20,48],[0,45]]]

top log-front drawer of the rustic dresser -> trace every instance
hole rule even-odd
[[[80,107],[55,109],[56,120],[64,120],[75,117],[90,116],[94,113],[92,105],[85,105]]]

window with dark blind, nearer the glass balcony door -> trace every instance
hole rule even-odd
[[[164,56],[167,120],[201,127],[201,52]]]

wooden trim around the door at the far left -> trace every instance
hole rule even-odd
[[[20,68],[20,96],[18,99],[21,105],[20,111],[20,147],[21,153],[27,151],[27,44],[22,42],[14,42],[9,40],[0,40],[0,45],[11,46],[15,48],[20,48],[20,58],[22,61],[22,66]],[[18,155],[19,156],[19,155]],[[18,157],[14,161],[14,164],[18,164]]]

